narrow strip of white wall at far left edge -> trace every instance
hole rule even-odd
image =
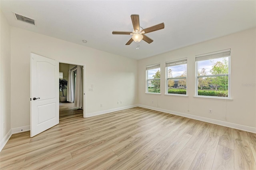
[[[0,150],[10,137],[10,25],[0,12]]]

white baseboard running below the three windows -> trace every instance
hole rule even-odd
[[[226,127],[229,127],[229,128],[244,130],[244,131],[247,131],[247,132],[256,133],[256,128],[253,128],[253,127],[250,127],[250,126],[244,126],[244,125],[240,125],[240,124],[224,122],[224,121],[221,121],[221,120],[204,118],[204,117],[195,116],[195,115],[186,114],[186,113],[174,112],[174,111],[171,111],[171,110],[166,110],[166,109],[161,109],[161,108],[144,106],[144,105],[141,105],[141,104],[138,104],[138,107],[147,108],[147,109],[151,109],[151,110],[156,110],[156,111],[159,111],[159,112],[164,112],[164,113],[169,113],[169,114],[174,114],[174,115],[178,115],[178,116],[183,116],[183,117],[186,117],[186,118],[200,120],[200,121],[204,121],[204,122],[208,122],[208,123],[212,123],[212,124],[218,124],[218,125],[221,125],[221,126],[226,126]]]

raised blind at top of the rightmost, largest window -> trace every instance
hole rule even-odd
[[[217,52],[211,52],[207,54],[201,54],[196,56],[196,61],[203,61],[203,60],[211,60],[215,58],[224,58],[230,56],[230,49],[227,50],[221,50]]]

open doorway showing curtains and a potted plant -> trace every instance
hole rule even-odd
[[[64,90],[60,88],[60,122],[70,117],[85,117],[84,66],[60,62],[59,75],[60,84],[66,84]]]

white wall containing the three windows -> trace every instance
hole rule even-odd
[[[232,101],[195,98],[195,56],[231,48],[231,98]],[[188,97],[167,96],[165,92],[165,62],[188,58],[187,93]],[[202,118],[209,118],[256,127],[256,28],[216,38],[151,58],[138,61],[138,104],[178,112]],[[161,64],[161,95],[145,94],[146,65]],[[254,86],[242,86],[254,84]],[[154,104],[152,104],[154,100]],[[209,114],[208,109],[213,113]],[[189,111],[188,111],[189,110]]]

